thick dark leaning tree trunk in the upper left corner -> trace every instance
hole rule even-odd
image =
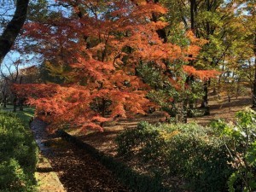
[[[26,20],[28,3],[29,0],[17,0],[15,15],[12,20],[9,21],[9,24],[6,26],[0,37],[0,64],[2,63],[4,56],[7,55],[15,43],[15,39],[19,35],[20,29]]]

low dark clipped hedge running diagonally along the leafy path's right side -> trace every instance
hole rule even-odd
[[[100,161],[103,166],[106,166],[113,174],[118,177],[121,183],[124,183],[129,189],[140,192],[168,192],[167,189],[160,183],[159,177],[149,177],[145,174],[139,174],[133,171],[129,166],[123,162],[115,160],[113,157],[103,154],[96,148],[93,148],[88,143],[80,141],[76,137],[72,137],[67,132],[59,130],[56,133],[66,139],[68,142],[76,144],[79,148],[84,148],[96,160]]]

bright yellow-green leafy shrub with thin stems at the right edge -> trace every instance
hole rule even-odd
[[[236,113],[236,123],[223,120],[212,122],[212,127],[230,155],[235,169],[229,179],[229,191],[256,190],[256,112],[252,109]]]

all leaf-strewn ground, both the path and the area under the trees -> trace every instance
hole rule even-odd
[[[228,99],[216,100],[211,97],[209,105],[210,115],[189,119],[189,122],[207,125],[212,119],[233,121],[237,111],[251,106],[251,98],[239,96],[228,102]],[[32,118],[33,110],[26,108],[23,113],[18,113],[21,119],[28,121]],[[104,154],[115,156],[117,146],[114,138],[121,131],[135,128],[140,121],[157,123],[162,118],[162,113],[155,112],[108,123],[103,132],[84,133],[79,130],[67,130],[67,132]],[[38,191],[129,191],[117,181],[111,172],[90,157],[90,154],[72,143],[61,140],[60,137],[49,135],[44,130],[45,126],[44,122],[38,119],[35,119],[31,126],[38,146],[41,148],[36,172]]]

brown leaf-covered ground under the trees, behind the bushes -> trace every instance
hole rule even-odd
[[[245,108],[250,108],[252,100],[250,96],[234,97],[228,102],[228,98],[216,100],[214,96],[210,97],[210,115],[188,119],[189,122],[195,122],[200,125],[208,125],[213,119],[224,119],[226,122],[234,121],[236,112]],[[147,116],[139,115],[133,119],[123,119],[119,122],[112,122],[105,126],[104,132],[81,133],[79,131],[68,131],[71,135],[79,137],[86,143],[90,143],[95,148],[110,155],[116,154],[116,144],[114,138],[125,129],[135,128],[140,121],[152,123],[160,122],[163,118],[162,113],[156,112]]]

